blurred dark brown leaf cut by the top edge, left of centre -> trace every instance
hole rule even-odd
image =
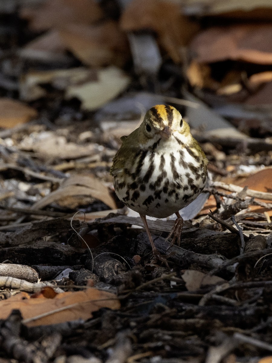
[[[38,9],[23,7],[21,17],[37,31],[61,28],[67,24],[92,24],[103,17],[94,0],[47,0]]]

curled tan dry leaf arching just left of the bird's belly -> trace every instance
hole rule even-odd
[[[46,197],[37,201],[32,205],[32,208],[41,209],[46,205],[65,199],[70,196],[90,196],[95,199],[101,200],[107,204],[111,209],[116,208],[115,201],[110,195],[108,188],[105,187],[99,179],[85,175],[74,175],[66,179],[59,185],[59,188],[51,192]],[[63,202],[62,202],[63,204]]]

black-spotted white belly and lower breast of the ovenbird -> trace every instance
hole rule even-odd
[[[207,170],[203,160],[181,163],[178,157],[147,155],[140,172],[136,168],[115,176],[115,192],[134,211],[165,218],[191,203],[204,188]]]

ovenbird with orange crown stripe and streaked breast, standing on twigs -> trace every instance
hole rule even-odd
[[[203,190],[207,178],[207,159],[190,133],[189,125],[172,106],[157,105],[141,125],[123,142],[113,159],[116,195],[140,214],[153,254],[159,255],[148,228],[146,216],[164,218],[176,214],[169,234],[178,240],[183,219],[179,210]]]

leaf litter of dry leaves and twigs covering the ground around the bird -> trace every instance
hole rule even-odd
[[[1,359],[269,362],[271,4],[123,5],[0,5]],[[209,159],[170,271],[109,173],[156,103]]]

